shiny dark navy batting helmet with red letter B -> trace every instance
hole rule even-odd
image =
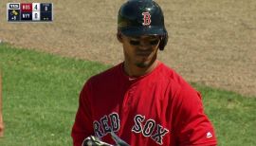
[[[159,49],[168,42],[162,9],[153,0],[128,0],[119,9],[118,29],[126,36],[160,35]]]

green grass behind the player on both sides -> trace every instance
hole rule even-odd
[[[110,67],[0,45],[5,136],[1,146],[71,145],[83,83]],[[192,85],[203,95],[220,146],[256,145],[256,98]]]

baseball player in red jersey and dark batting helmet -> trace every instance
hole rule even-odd
[[[112,145],[122,145],[115,139],[131,146],[216,145],[200,94],[157,60],[168,32],[155,1],[124,3],[117,38],[124,62],[84,84],[71,132],[73,144],[90,145],[88,140],[98,138],[101,142],[95,143]]]

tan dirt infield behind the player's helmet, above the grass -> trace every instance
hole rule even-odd
[[[7,23],[7,2],[0,3],[3,42],[105,64],[122,61],[116,30],[124,0],[48,0],[54,4],[54,22],[32,24]],[[159,53],[162,62],[189,82],[256,95],[255,0],[157,2],[170,33]]]

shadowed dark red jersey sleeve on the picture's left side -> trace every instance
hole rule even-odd
[[[93,135],[92,112],[89,101],[90,92],[89,82],[87,82],[80,94],[79,108],[71,132],[74,146],[81,146],[85,137]]]

